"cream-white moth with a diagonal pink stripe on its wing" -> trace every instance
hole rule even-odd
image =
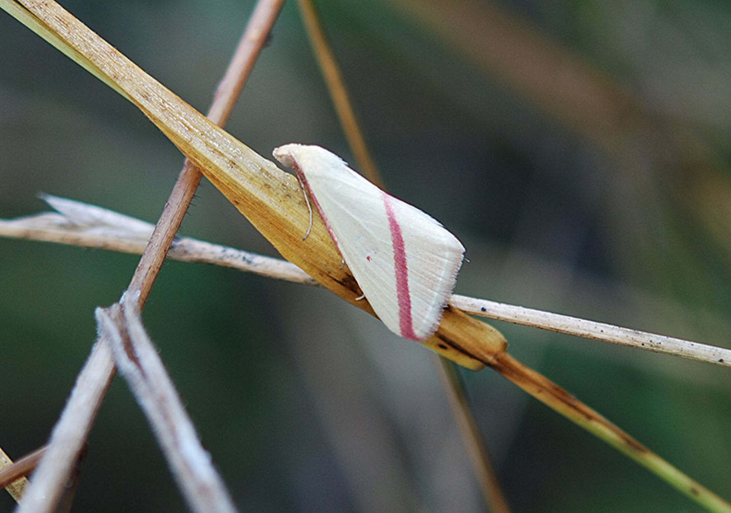
[[[320,146],[285,144],[273,155],[293,168],[309,192],[381,321],[407,339],[431,337],[462,265],[460,241],[433,217],[383,192]]]

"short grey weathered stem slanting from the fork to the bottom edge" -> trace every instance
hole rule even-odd
[[[96,310],[99,332],[109,340],[115,362],[143,408],[178,486],[194,512],[232,513],[226,486],[203,449],[173,381],[142,325],[136,300]]]

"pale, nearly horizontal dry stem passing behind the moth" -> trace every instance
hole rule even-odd
[[[140,254],[154,228],[148,222],[88,203],[52,195],[42,195],[42,198],[58,213],[45,212],[14,220],[0,220],[0,236]],[[189,237],[175,239],[168,257],[184,262],[231,267],[277,280],[317,285],[316,280],[293,263]],[[458,294],[452,296],[450,304],[471,315],[496,321],[681,356],[697,362],[731,365],[731,350],[715,345]]]

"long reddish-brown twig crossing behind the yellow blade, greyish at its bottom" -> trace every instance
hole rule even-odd
[[[227,119],[235,104],[235,95],[246,81],[248,72],[281,10],[282,1],[262,0],[257,4],[227,74],[216,91],[213,100],[216,108],[211,108],[212,115],[218,116],[214,121],[222,123]],[[200,171],[186,160],[128,288],[128,291],[133,291],[140,309],[145,304],[200,178]],[[99,337],[86,366],[77,378],[69,402],[53,429],[48,454],[39,464],[34,484],[20,505],[20,513],[50,512],[58,503],[63,485],[83,447],[113,374],[110,348],[105,338]]]

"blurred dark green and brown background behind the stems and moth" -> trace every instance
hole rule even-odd
[[[251,1],[63,2],[205,111]],[[731,5],[319,1],[391,192],[467,247],[457,292],[731,340]],[[153,221],[182,158],[0,15],[0,217],[37,192]],[[352,161],[294,2],[228,130]],[[202,183],[183,233],[275,255]],[[0,239],[0,446],[45,443],[137,257]],[[145,310],[240,511],[485,511],[431,353],[322,290],[167,263]],[[510,351],[725,498],[725,368],[496,323]],[[515,512],[700,512],[490,370],[463,372]],[[0,511],[10,511],[7,494]],[[185,508],[115,378],[74,511]]]

